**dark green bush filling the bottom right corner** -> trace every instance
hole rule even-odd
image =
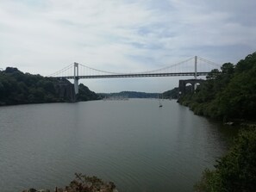
[[[215,170],[204,170],[198,192],[249,192],[256,189],[256,127],[241,130],[234,146],[217,160]]]

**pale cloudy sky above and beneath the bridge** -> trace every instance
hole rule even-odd
[[[195,55],[236,64],[256,51],[255,8],[255,0],[0,0],[0,68],[150,71]],[[178,79],[79,82],[95,92],[163,92]]]

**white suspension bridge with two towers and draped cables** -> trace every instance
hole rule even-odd
[[[220,69],[221,65],[215,62],[195,56],[190,59],[167,65],[157,70],[140,72],[111,72],[102,71],[87,65],[73,63],[54,72],[48,77],[74,79],[75,94],[78,94],[78,79],[83,78],[121,78],[121,77],[179,77],[206,76],[213,69]]]

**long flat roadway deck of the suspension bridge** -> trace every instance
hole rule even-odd
[[[197,76],[206,76],[209,72],[197,72]],[[76,78],[122,78],[122,77],[178,77],[178,76],[195,76],[195,72],[172,72],[172,73],[125,73],[111,75],[90,75],[77,76]],[[74,79],[74,76],[54,77]]]

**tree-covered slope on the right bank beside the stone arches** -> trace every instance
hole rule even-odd
[[[223,121],[255,120],[256,53],[237,65],[225,63],[221,69],[222,73],[211,71],[200,89],[181,98],[180,103],[189,106],[197,115]]]

